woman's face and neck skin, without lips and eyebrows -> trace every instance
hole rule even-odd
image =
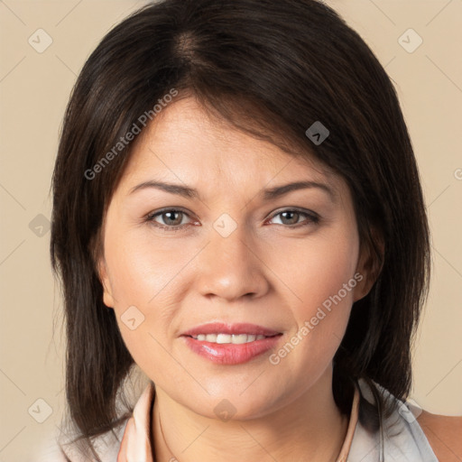
[[[99,273],[126,347],[156,385],[157,460],[335,460],[347,417],[334,402],[332,358],[353,302],[373,283],[346,182],[310,154],[298,159],[210,118],[193,97],[163,109],[137,141],[107,209]],[[154,188],[130,193],[154,179],[196,188],[200,199]],[[262,199],[262,189],[296,180],[325,183],[334,196],[310,188]],[[186,215],[145,219],[162,208]],[[293,208],[315,212],[319,223],[303,213],[281,215]],[[237,225],[226,237],[213,227],[225,213]],[[155,226],[178,223],[176,232]],[[269,355],[355,273],[362,281],[271,364]],[[144,316],[134,329],[121,320],[131,306]],[[217,365],[180,337],[211,321],[254,323],[282,337],[246,364]],[[232,420],[217,418],[223,399],[236,408]]]

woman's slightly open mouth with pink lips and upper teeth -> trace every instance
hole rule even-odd
[[[190,350],[212,363],[239,365],[263,357],[282,332],[254,324],[210,323],[189,329],[181,337]]]

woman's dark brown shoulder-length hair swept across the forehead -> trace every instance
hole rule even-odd
[[[69,420],[79,437],[89,443],[131,411],[117,412],[116,402],[134,360],[103,303],[96,262],[106,207],[134,142],[97,174],[88,171],[172,88],[245,133],[314,155],[347,181],[375,277],[354,304],[334,358],[334,397],[347,413],[352,383],[363,378],[404,399],[430,244],[391,80],[361,37],[319,1],[164,0],[99,43],[79,74],[60,136],[51,263],[62,281]],[[329,130],[319,145],[305,134],[316,121]]]

